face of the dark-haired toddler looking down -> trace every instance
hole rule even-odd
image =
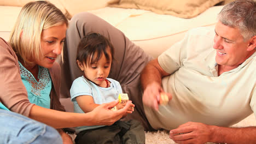
[[[83,65],[80,64],[83,68],[79,66],[79,68],[84,72],[86,78],[96,83],[100,87],[106,87],[105,80],[108,77],[112,63],[112,56],[110,51],[108,50],[107,53],[109,55],[109,62],[107,61],[104,53],[102,53],[101,58],[98,59],[97,62],[88,65],[86,65],[85,63],[83,63]],[[94,59],[96,56],[97,53],[94,53],[92,59]]]

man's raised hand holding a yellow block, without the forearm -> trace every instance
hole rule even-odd
[[[150,83],[143,92],[142,101],[143,104],[158,110],[158,104],[160,103],[160,93],[165,93],[162,87],[157,82]],[[169,100],[172,99],[171,94],[167,94]]]

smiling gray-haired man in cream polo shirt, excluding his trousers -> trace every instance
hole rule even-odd
[[[234,1],[215,31],[193,29],[147,64],[142,100],[154,129],[170,130],[176,143],[256,143],[256,127],[228,128],[256,115],[255,21],[255,1]]]

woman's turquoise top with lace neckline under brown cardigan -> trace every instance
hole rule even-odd
[[[51,77],[47,68],[38,65],[38,79],[19,62],[21,80],[27,89],[30,103],[50,109]]]

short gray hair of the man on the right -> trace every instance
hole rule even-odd
[[[218,14],[225,26],[240,29],[244,40],[256,35],[256,1],[236,0],[226,4]]]

